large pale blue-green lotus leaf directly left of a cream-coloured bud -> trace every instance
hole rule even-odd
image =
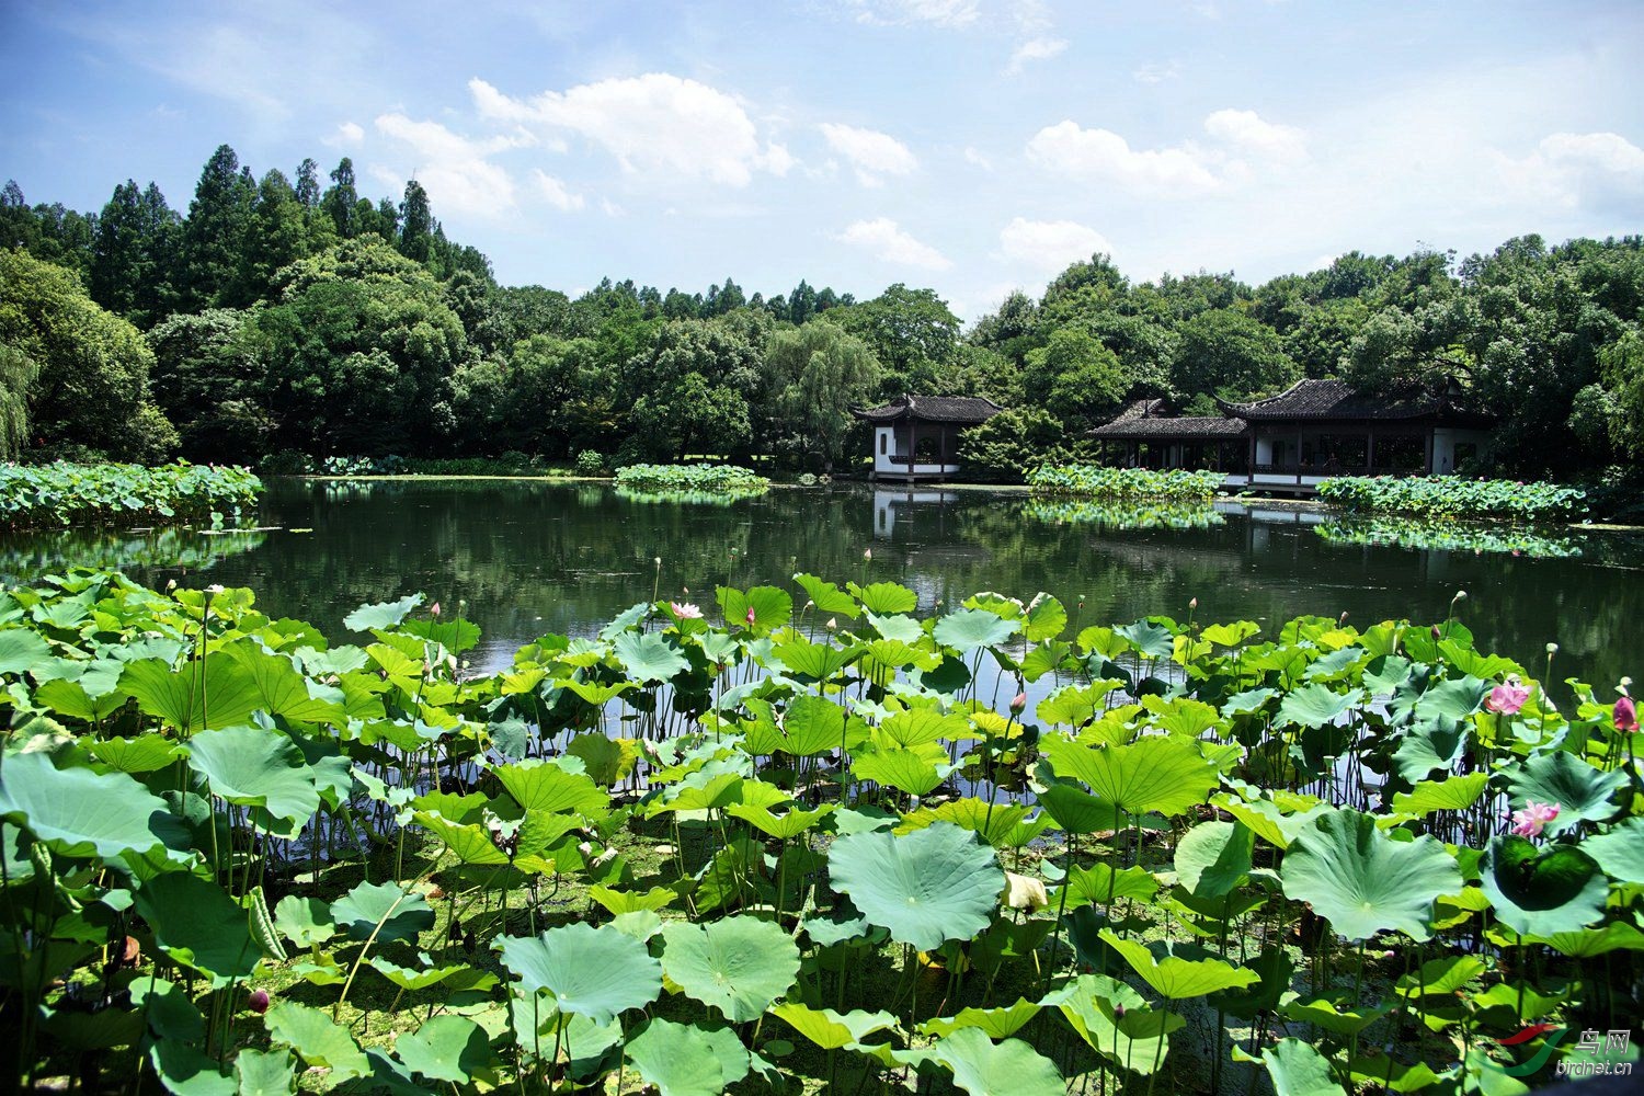
[[[1004,889],[993,850],[949,822],[906,836],[838,838],[829,850],[829,876],[870,923],[921,951],[986,928]]]

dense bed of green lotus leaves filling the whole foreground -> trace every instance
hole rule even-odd
[[[327,641],[250,590],[0,596],[25,1086],[1517,1091],[1626,1053],[1560,1035],[1632,1024],[1636,710],[1455,613],[794,575],[475,675],[421,605]]]

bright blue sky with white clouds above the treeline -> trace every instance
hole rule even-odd
[[[158,12],[156,12],[158,8]],[[0,0],[0,176],[411,174],[505,283],[1249,281],[1644,230],[1644,3]]]

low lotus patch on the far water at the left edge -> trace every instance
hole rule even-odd
[[[229,465],[0,465],[0,527],[140,526],[238,518],[263,481]]]

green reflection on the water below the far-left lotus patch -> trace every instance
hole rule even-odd
[[[153,529],[117,532],[110,529],[61,529],[5,537],[0,542],[0,582],[33,582],[39,575],[69,567],[107,570],[196,572],[219,560],[261,546],[265,532],[214,532],[194,529]]]

